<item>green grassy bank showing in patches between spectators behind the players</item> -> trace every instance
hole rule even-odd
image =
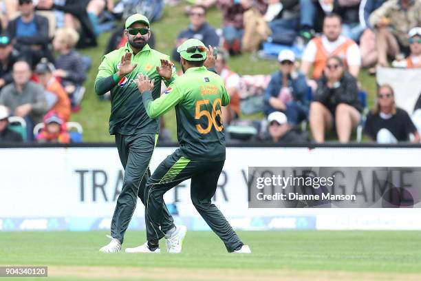
[[[173,50],[173,42],[177,38],[177,34],[186,28],[188,25],[188,18],[183,12],[184,6],[166,6],[162,19],[156,23],[152,23],[151,28],[155,32],[156,45],[155,49],[165,54],[171,54]],[[216,10],[210,10],[207,14],[208,22],[220,27],[222,22],[221,13]],[[105,45],[111,35],[110,32],[101,34],[98,39],[98,47],[82,50],[81,52],[92,59],[91,70],[85,82],[86,93],[82,102],[82,110],[72,115],[72,121],[76,121],[83,125],[83,138],[85,142],[113,142],[114,138],[108,133],[108,118],[110,112],[110,105],[107,101],[98,101],[94,93],[94,81],[98,72],[100,59],[104,54]],[[258,59],[253,54],[242,54],[230,58],[229,66],[235,72],[241,75],[244,74],[270,74],[277,70],[277,61],[266,61]],[[180,65],[177,65],[180,69]],[[373,76],[369,76],[367,71],[360,72],[358,80],[363,85],[363,89],[369,94],[368,102],[371,107],[374,103],[376,80]],[[175,112],[171,110],[164,116],[166,126],[173,133],[175,140]],[[254,116],[246,116],[246,118],[263,118],[263,114],[255,114]]]

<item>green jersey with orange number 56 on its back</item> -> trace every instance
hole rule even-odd
[[[186,158],[225,159],[221,107],[230,103],[230,96],[219,75],[206,67],[191,67],[160,98],[153,101],[151,92],[143,92],[142,98],[151,118],[158,118],[175,106],[177,138]]]

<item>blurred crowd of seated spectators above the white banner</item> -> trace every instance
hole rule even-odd
[[[158,21],[164,5],[179,1],[0,1],[0,142],[18,141],[7,129],[9,116],[23,118],[27,141],[69,142],[66,123],[80,110],[90,65],[77,49],[95,48],[98,35],[114,27],[101,52],[116,50],[127,43],[121,22],[129,15],[140,12]],[[226,127],[241,127],[233,121],[247,118],[241,108],[250,96],[244,94],[241,76],[230,69],[230,56],[271,43],[283,46],[279,70],[270,75],[261,99],[248,105],[263,113],[261,122],[247,123],[257,132],[250,139],[348,143],[362,126],[367,138],[378,143],[420,142],[421,105],[405,112],[396,105],[393,87],[378,85],[376,105],[367,110],[358,79],[362,67],[371,74],[378,66],[421,67],[421,0],[189,2],[188,25],[175,30],[180,33],[173,48],[191,38],[219,47],[215,71],[231,97],[222,108]],[[209,9],[219,10],[220,26],[206,20]],[[156,40],[160,34],[152,28],[149,44],[153,47]],[[174,51],[171,59],[179,61],[179,54]],[[38,123],[44,123],[43,129],[34,136]],[[162,140],[171,142],[161,126],[166,132]]]

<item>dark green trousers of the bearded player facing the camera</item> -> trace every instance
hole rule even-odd
[[[129,136],[116,134],[118,155],[125,169],[125,178],[111,221],[111,236],[120,242],[124,240],[138,197],[144,204],[144,187],[151,173],[149,163],[157,140],[158,135],[155,134]],[[168,231],[174,227],[173,218],[165,205],[161,207],[163,210],[162,229]]]

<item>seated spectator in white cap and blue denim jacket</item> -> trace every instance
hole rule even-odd
[[[279,71],[272,74],[265,92],[265,110],[284,112],[290,125],[307,119],[309,101],[305,98],[308,90],[305,76],[295,69],[295,55],[291,50],[279,53]]]

